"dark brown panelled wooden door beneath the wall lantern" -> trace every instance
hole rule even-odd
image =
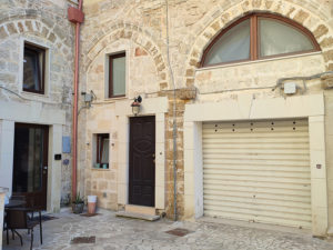
[[[155,117],[130,118],[130,203],[155,206]]]

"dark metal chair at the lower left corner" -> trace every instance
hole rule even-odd
[[[41,217],[39,218],[39,221],[30,220],[28,213],[31,212],[33,212],[33,210],[28,208],[12,208],[6,210],[7,244],[9,243],[8,231],[11,230],[13,233],[18,234],[21,241],[21,246],[23,246],[22,237],[20,233],[18,233],[17,229],[28,229],[31,233],[30,250],[32,250],[33,228],[38,224],[41,226]],[[42,243],[42,231],[40,231],[40,242]]]

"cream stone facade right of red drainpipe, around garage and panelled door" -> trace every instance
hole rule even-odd
[[[203,204],[206,202],[204,189],[208,189],[203,183],[203,174],[206,174],[203,173],[203,158],[208,157],[202,152],[205,127],[212,122],[220,128],[232,126],[235,121],[240,126],[242,122],[250,126],[250,122],[269,121],[272,124],[280,120],[301,119],[301,123],[306,123],[306,138],[310,138],[306,142],[309,171],[305,176],[311,182],[309,192],[312,194],[306,198],[311,206],[307,227],[319,236],[326,234],[330,228],[332,231],[332,90],[330,74],[324,73],[333,70],[332,1],[85,0],[83,11],[82,88],[95,94],[92,107],[80,114],[84,133],[80,133],[79,176],[84,193],[97,194],[99,204],[108,209],[119,210],[130,203],[131,103],[139,94],[143,98],[139,117],[155,117],[153,207],[157,212],[167,212],[170,218],[174,218],[175,204],[173,103],[176,121],[176,212],[181,219],[209,214]],[[320,50],[201,67],[203,53],[213,39],[249,13],[273,13],[299,23],[313,34]],[[125,52],[125,96],[108,98],[109,56],[119,52]],[[320,76],[307,80],[302,78],[319,73],[324,73],[325,79]],[[284,94],[281,86],[275,88],[282,78],[295,77],[293,83],[299,89],[295,94]],[[94,141],[99,133],[110,134],[108,169],[93,167]],[[261,221],[260,218],[244,220]]]

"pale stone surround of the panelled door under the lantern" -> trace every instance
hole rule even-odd
[[[118,206],[129,203],[129,152],[130,152],[130,117],[133,117],[132,100],[115,102],[118,117],[114,131],[118,132],[119,147],[111,147],[111,156],[117,156],[118,166]],[[155,209],[165,209],[165,113],[169,109],[167,97],[144,99],[140,116],[155,117]]]

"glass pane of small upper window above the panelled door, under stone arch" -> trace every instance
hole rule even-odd
[[[113,96],[125,94],[125,57],[112,59]]]

